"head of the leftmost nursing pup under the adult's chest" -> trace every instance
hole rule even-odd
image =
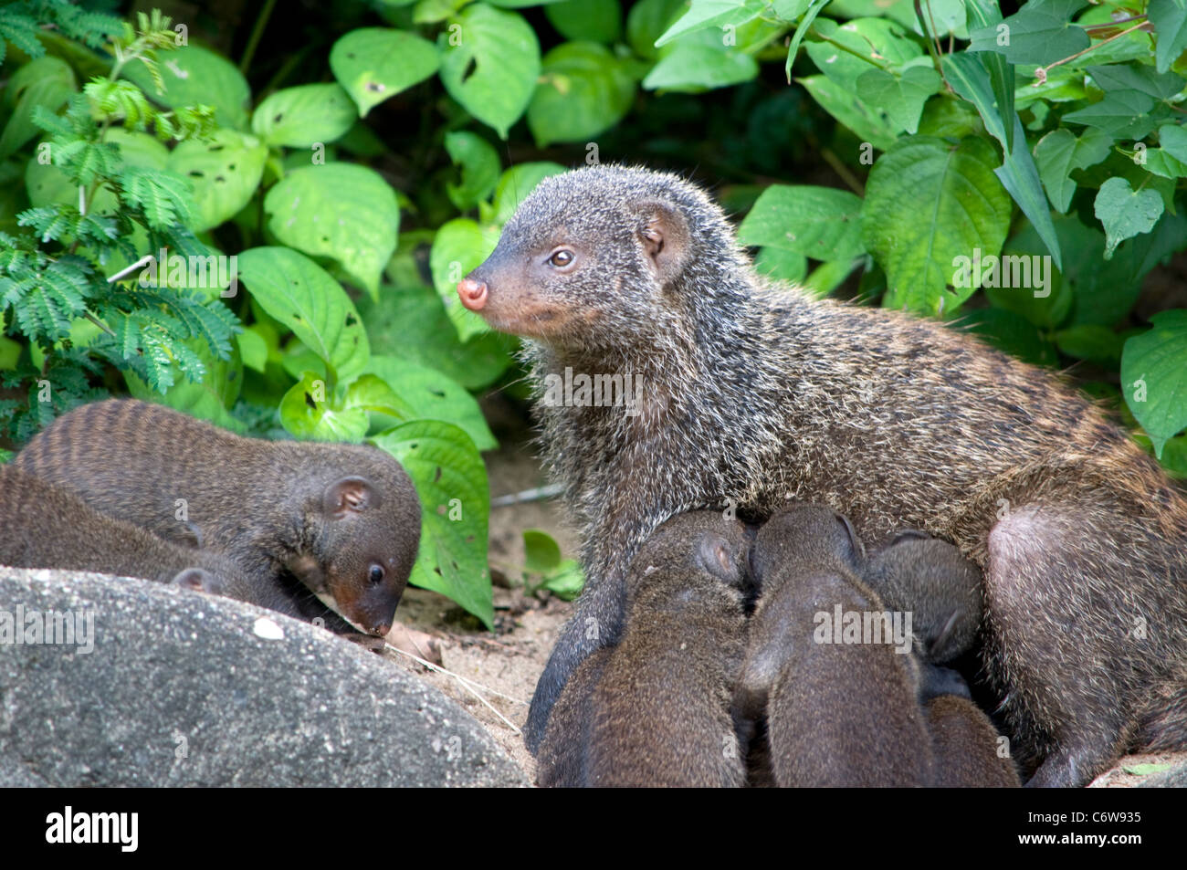
[[[677,514],[643,542],[627,576],[631,602],[680,609],[706,593],[741,605],[749,582],[745,527],[717,510]],[[653,601],[654,599],[654,601]]]

